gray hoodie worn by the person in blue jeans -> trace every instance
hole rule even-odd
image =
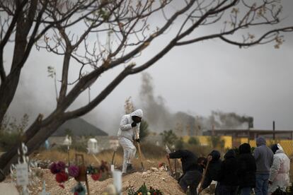
[[[256,162],[256,174],[270,174],[270,167],[274,159],[272,150],[266,146],[265,138],[256,139],[256,147],[253,155]]]

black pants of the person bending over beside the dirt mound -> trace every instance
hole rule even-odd
[[[179,178],[180,187],[184,192],[187,191],[188,186],[192,195],[197,195],[197,186],[202,179],[202,173],[197,170],[185,172],[183,176]]]

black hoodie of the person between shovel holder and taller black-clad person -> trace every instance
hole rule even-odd
[[[225,186],[237,186],[238,163],[236,160],[236,153],[234,150],[228,150],[224,155],[224,160],[219,171],[219,182]]]

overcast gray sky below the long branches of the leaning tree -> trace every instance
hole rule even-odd
[[[293,1],[284,0],[282,25],[293,25]],[[205,33],[202,30],[200,33]],[[166,35],[168,36],[168,34]],[[164,39],[155,42],[163,45]],[[12,49],[7,50],[7,56]],[[155,54],[156,49],[134,61],[139,64]],[[239,49],[220,40],[176,47],[146,71],[153,77],[155,95],[161,95],[171,112],[188,112],[208,116],[212,110],[236,112],[254,117],[255,129],[293,129],[293,33],[285,34],[280,49],[273,44]],[[8,60],[7,60],[8,61]],[[47,77],[47,66],[61,70],[62,59],[46,52],[33,52],[23,69],[16,97],[9,110],[11,116],[25,113],[35,119],[38,113],[54,110],[54,82]],[[72,71],[78,69],[72,65]],[[121,69],[105,73],[91,88],[97,94]],[[57,73],[61,76],[61,72]],[[89,122],[114,134],[124,102],[132,96],[139,105],[141,74],[129,76],[92,112],[84,116]],[[84,105],[82,95],[74,107]]]

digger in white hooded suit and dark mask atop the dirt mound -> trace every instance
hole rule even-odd
[[[124,115],[121,119],[117,136],[124,153],[122,173],[133,171],[131,160],[137,152],[133,141],[135,140],[139,143],[139,126],[142,121],[142,115],[142,110],[138,109],[131,114]]]

